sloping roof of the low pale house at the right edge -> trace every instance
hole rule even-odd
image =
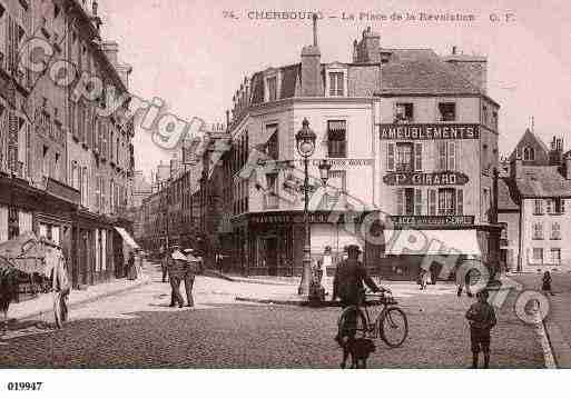
[[[571,198],[571,180],[567,180],[559,167],[521,167],[522,178],[515,183],[522,197],[569,197]]]

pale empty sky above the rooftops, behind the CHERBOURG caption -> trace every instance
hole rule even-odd
[[[430,6],[429,6],[430,4]],[[432,48],[488,57],[488,94],[501,104],[500,152],[509,154],[526,128],[571,149],[571,2],[555,0],[262,1],[100,0],[104,40],[116,40],[132,66],[132,93],[159,97],[190,121],[225,122],[244,80],[268,67],[299,62],[313,40],[311,20],[248,18],[252,11],[321,11],[322,62],[348,62],[353,40],[371,26],[386,48]],[[228,18],[229,12],[236,18]],[[355,16],[355,20],[342,19]],[[366,20],[360,13],[467,13],[473,22]],[[508,17],[509,14],[509,17]],[[250,14],[252,16],[252,14]],[[336,17],[336,18],[329,18]],[[492,22],[492,18],[499,21]],[[137,131],[136,169],[147,177],[171,156]]]

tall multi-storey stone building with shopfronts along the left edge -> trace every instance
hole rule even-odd
[[[75,287],[121,277],[124,246],[115,227],[130,229],[125,210],[132,189],[134,126],[128,103],[106,111],[106,93],[127,92],[130,67],[118,61],[116,43],[102,41],[95,0],[2,0],[0,11],[7,96],[21,96],[8,99],[13,107],[1,131],[1,152],[12,158],[2,178],[12,188],[1,192],[12,196],[2,198],[9,228],[4,233],[2,210],[0,240],[33,230],[59,243]],[[22,57],[29,42],[41,43],[45,68]],[[14,69],[18,49],[23,61]],[[36,69],[26,68],[32,61]],[[19,140],[11,140],[17,150],[4,144],[4,138],[16,138],[10,126],[19,127]]]

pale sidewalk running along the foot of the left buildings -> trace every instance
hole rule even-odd
[[[142,266],[142,277],[137,280],[131,281],[122,278],[91,286],[86,290],[71,290],[68,306],[70,309],[73,309],[79,305],[89,303],[148,285],[152,268],[155,268],[154,263],[145,262]],[[48,320],[53,319],[53,295],[51,292],[42,293],[38,298],[20,303],[11,303],[8,310],[8,320],[24,320],[36,317],[47,318]]]

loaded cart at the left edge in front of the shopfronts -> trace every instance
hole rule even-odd
[[[0,243],[0,311],[3,313],[0,332],[6,331],[10,303],[23,285],[35,292],[53,292],[55,321],[61,328],[67,320],[70,289],[65,257],[59,246],[38,239],[33,232]]]

